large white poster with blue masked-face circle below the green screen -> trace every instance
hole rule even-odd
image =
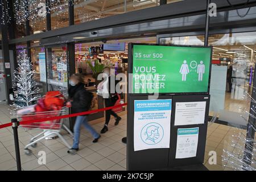
[[[172,100],[134,101],[134,151],[170,148]]]

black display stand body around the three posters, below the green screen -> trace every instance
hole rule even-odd
[[[129,73],[132,73],[133,55],[132,46],[129,44]],[[130,77],[129,77],[130,78]],[[209,89],[207,93],[191,94],[159,94],[158,100],[172,99],[171,111],[171,133],[170,148],[154,148],[147,150],[134,151],[134,101],[148,100],[148,94],[133,94],[128,80],[127,94],[127,170],[193,170],[192,166],[197,166],[195,170],[207,170],[204,167],[205,143],[207,138],[207,125],[209,114]],[[198,125],[175,126],[175,105],[176,102],[206,102],[204,123]],[[199,127],[199,138],[197,143],[196,156],[193,158],[175,159],[177,130],[183,128]]]

